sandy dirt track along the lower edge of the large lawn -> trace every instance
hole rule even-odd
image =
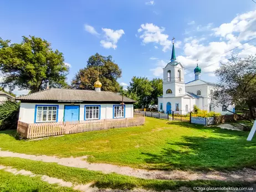
[[[143,179],[166,179],[166,180],[229,180],[229,181],[256,181],[256,170],[244,168],[232,172],[185,172],[181,170],[145,170],[134,169],[130,167],[121,167],[105,163],[88,163],[86,157],[58,158],[47,155],[28,155],[23,153],[14,153],[1,151],[0,157],[18,157],[23,159],[37,160],[48,163],[58,163],[67,167],[85,168],[88,170],[101,171],[103,173],[112,173],[133,176]],[[0,162],[1,164],[1,162]]]

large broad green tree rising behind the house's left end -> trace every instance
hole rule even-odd
[[[4,74],[2,86],[37,92],[50,87],[66,86],[69,68],[63,53],[53,51],[47,40],[34,36],[24,37],[21,43],[11,44],[0,38],[0,70]]]

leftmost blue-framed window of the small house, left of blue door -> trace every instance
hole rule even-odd
[[[57,122],[58,105],[54,106],[35,106],[35,122]]]

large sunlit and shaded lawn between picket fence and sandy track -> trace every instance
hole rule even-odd
[[[146,169],[224,169],[256,165],[256,139],[248,132],[146,118],[145,126],[17,141],[0,132],[0,148],[26,154],[79,157]]]

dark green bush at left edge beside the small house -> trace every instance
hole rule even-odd
[[[0,103],[0,130],[17,128],[19,106],[20,103],[16,101]]]

